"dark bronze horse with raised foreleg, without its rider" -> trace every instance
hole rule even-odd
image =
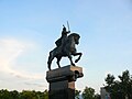
[[[66,57],[66,56],[69,58],[70,65],[75,66],[75,64],[72,59],[72,55],[74,55],[74,56],[79,55],[79,57],[75,61],[75,63],[77,63],[82,55],[82,53],[77,53],[77,50],[75,46],[76,44],[79,44],[79,38],[80,38],[79,34],[72,33],[67,36],[66,43],[63,47],[58,46],[50,52],[50,56],[48,56],[48,61],[47,61],[47,66],[48,66],[50,70],[51,70],[51,64],[52,64],[52,61],[54,59],[54,57],[57,58],[56,63],[59,68],[61,68],[59,62],[61,62],[62,57]]]

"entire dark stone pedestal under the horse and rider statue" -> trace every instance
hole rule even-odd
[[[50,82],[50,99],[75,99],[75,81],[82,77],[82,68],[78,66],[65,66],[48,70],[46,80]]]

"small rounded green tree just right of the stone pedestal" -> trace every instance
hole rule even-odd
[[[84,99],[95,99],[95,89],[86,87],[82,91]]]

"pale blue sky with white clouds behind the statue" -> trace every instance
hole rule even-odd
[[[0,89],[48,89],[48,52],[67,21],[80,35],[77,89],[99,92],[107,74],[132,74],[132,0],[0,0]]]

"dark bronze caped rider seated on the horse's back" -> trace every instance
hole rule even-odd
[[[63,26],[64,26],[64,25],[63,25]],[[68,33],[70,33],[70,31],[66,31],[66,28],[64,26],[64,28],[63,28],[63,31],[62,31],[62,36],[61,36],[61,38],[58,38],[58,40],[55,42],[55,44],[57,45],[57,47],[58,47],[58,46],[61,46],[62,48],[64,47]]]

